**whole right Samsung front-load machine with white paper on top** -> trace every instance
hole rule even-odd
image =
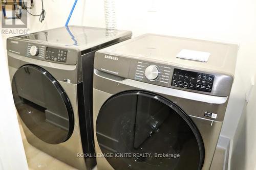
[[[237,52],[236,44],[152,34],[97,51],[98,169],[209,169]]]

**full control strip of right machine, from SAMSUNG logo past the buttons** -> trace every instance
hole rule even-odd
[[[131,79],[143,82],[140,88],[145,90],[146,84],[152,84],[161,86],[159,88],[167,87],[162,90],[169,88],[214,96],[228,96],[233,82],[232,75],[215,71],[208,72],[200,68],[182,67],[175,63],[156,62],[151,58],[140,60],[100,51],[95,53],[94,68],[116,76],[116,79],[109,78],[115,81]],[[157,86],[150,85],[148,88],[157,88]]]

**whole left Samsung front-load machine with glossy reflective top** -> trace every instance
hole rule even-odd
[[[129,31],[69,26],[7,39],[13,99],[30,144],[77,169],[96,164],[94,53],[130,37]]]

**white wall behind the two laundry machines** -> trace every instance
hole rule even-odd
[[[73,5],[73,1],[61,0],[47,0],[44,3],[45,21],[39,23],[38,18],[31,17],[31,31],[65,25]],[[36,0],[35,4],[31,11],[40,11],[40,0]],[[232,138],[239,118],[247,108],[245,92],[255,73],[256,1],[116,0],[116,17],[117,28],[132,30],[134,36],[150,32],[240,43],[235,81],[221,131],[221,135],[231,138],[231,145],[232,142],[237,143],[239,137],[236,135],[234,141]],[[104,27],[103,0],[78,1],[70,24]],[[255,116],[247,118],[255,121]],[[252,131],[246,129],[246,133]],[[250,142],[256,143],[256,140],[250,138]]]

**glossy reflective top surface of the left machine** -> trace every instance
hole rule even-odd
[[[118,38],[130,37],[132,32],[123,30],[109,31],[103,28],[68,26],[40,31],[13,39],[39,42],[60,47],[78,48],[80,51],[101,45]]]

